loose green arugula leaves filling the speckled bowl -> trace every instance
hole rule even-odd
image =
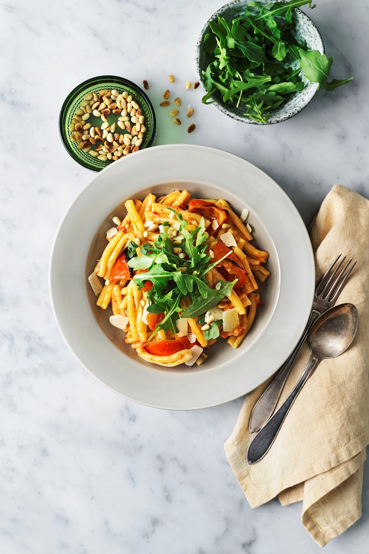
[[[293,11],[302,6],[315,8],[311,0],[253,1],[244,16],[210,22],[204,37],[207,66],[202,77],[207,93],[202,102],[212,104],[220,95],[253,121],[267,123],[271,110],[304,88],[303,75],[328,91],[352,81],[350,77],[328,82],[332,58],[296,38]]]

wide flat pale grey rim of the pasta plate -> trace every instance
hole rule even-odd
[[[169,176],[168,166],[162,163],[163,159],[168,160],[168,155],[173,162]],[[188,163],[189,157],[193,162],[192,164]],[[147,171],[143,171],[144,166],[142,163],[144,158],[147,158],[147,167],[153,170],[149,173],[149,179],[147,179]],[[205,165],[204,158],[207,158],[207,163]],[[55,319],[61,335],[64,337],[64,340],[77,360],[79,360],[81,365],[96,379],[122,396],[132,401],[145,404],[146,406],[165,409],[200,409],[217,406],[238,398],[264,382],[278,369],[280,364],[289,356],[290,351],[292,351],[295,343],[298,341],[306,321],[308,320],[315,289],[315,266],[313,248],[311,247],[308,231],[303,223],[303,219],[292,200],[283,189],[278,186],[274,179],[252,163],[229,152],[207,146],[175,144],[155,146],[154,148],[149,148],[148,150],[138,153],[138,156],[136,154],[136,156],[132,156],[131,158],[128,157],[127,159],[128,162],[124,162],[124,165],[121,165],[123,162],[121,161],[119,163],[118,160],[118,163],[108,166],[105,173],[97,173],[77,195],[74,201],[71,202],[69,209],[66,211],[59,224],[51,250],[49,289],[51,306],[53,307]],[[227,165],[225,162],[234,162],[232,163],[232,171],[230,173],[228,168],[226,173],[221,173],[221,175],[219,175],[216,167],[219,168],[220,172],[223,171],[222,168]],[[137,175],[137,163],[139,163],[141,167],[142,175],[139,176],[138,182],[130,183],[129,176]],[[210,171],[209,168],[211,168]],[[149,187],[150,184],[192,181],[204,184],[210,183],[218,187],[219,183],[222,182],[222,186],[224,186],[223,179],[225,175],[227,175],[227,178],[230,178],[230,176],[233,178],[234,183],[232,184],[231,190],[236,191],[236,194],[239,194],[237,183],[239,179],[243,179],[243,184],[246,187],[243,189],[242,193],[244,199],[247,199],[247,187],[252,187],[254,189],[254,194],[256,196],[254,196],[253,202],[255,204],[261,202],[263,208],[262,220],[264,222],[268,220],[271,222],[266,228],[269,235],[272,237],[275,245],[274,248],[277,250],[279,263],[282,252],[280,252],[278,248],[283,249],[283,281],[279,279],[279,284],[282,283],[282,285],[280,285],[279,297],[273,312],[273,318],[276,317],[278,312],[277,319],[281,321],[280,318],[283,317],[284,321],[286,317],[286,305],[290,305],[289,310],[293,311],[293,317],[288,320],[289,324],[285,327],[286,340],[284,340],[283,343],[280,343],[280,337],[278,338],[275,333],[273,334],[273,326],[271,323],[265,327],[260,335],[261,343],[259,344],[259,353],[263,351],[263,345],[266,341],[270,353],[269,356],[262,356],[261,366],[258,364],[257,372],[243,371],[243,364],[240,367],[241,358],[238,358],[237,364],[233,363],[232,365],[232,363],[230,364],[229,362],[225,364],[222,363],[221,371],[215,366],[214,368],[209,368],[207,371],[196,372],[198,377],[195,379],[195,387],[194,379],[187,379],[187,372],[185,371],[171,371],[170,379],[157,378],[154,376],[156,372],[153,368],[148,369],[146,366],[142,366],[138,360],[127,358],[123,352],[114,347],[101,327],[98,326],[92,314],[87,294],[80,294],[82,290],[81,286],[84,288],[86,286],[85,263],[79,264],[79,269],[76,271],[66,271],[65,255],[67,256],[70,253],[70,240],[74,240],[74,238],[71,239],[71,237],[74,237],[76,222],[79,220],[79,214],[85,211],[86,207],[88,208],[92,205],[96,206],[97,212],[101,213],[102,220],[109,209],[114,209],[116,206],[115,200],[113,201],[113,199],[111,199],[111,202],[109,203],[107,201],[106,204],[104,204],[105,208],[101,210],[101,204],[95,202],[96,194],[100,194],[98,191],[103,188],[101,187],[101,180],[103,181],[101,176],[110,175],[110,179],[108,179],[108,182],[110,182],[109,186],[116,187],[116,179],[118,178],[118,182],[120,182],[122,172],[126,173],[129,186],[127,190],[124,189],[123,191],[119,191],[119,194],[123,193],[127,197],[129,194],[134,193],[133,189],[136,189],[136,192],[141,191],[142,183],[145,183],[144,186]],[[157,175],[154,175],[155,172]],[[189,177],[193,174],[196,175],[195,178]],[[163,175],[165,175],[164,178],[162,177]],[[237,181],[235,179],[237,179]],[[259,179],[262,179],[262,181]],[[258,185],[256,185],[256,182],[258,182]],[[265,204],[262,191],[265,193],[266,189],[273,191],[272,196],[274,201],[279,203],[279,216],[282,217],[282,214],[284,214],[283,217],[287,218],[286,221],[295,225],[294,240],[299,243],[300,247],[298,250],[299,255],[292,260],[290,259],[289,248],[285,246],[285,239],[288,238],[288,240],[290,240],[288,223],[287,227],[283,229],[283,226],[282,228],[280,227],[277,219],[274,222],[271,220],[271,213],[273,212],[275,214],[275,211],[273,211],[274,204],[273,202]],[[103,188],[103,191],[106,193],[106,189]],[[98,217],[97,212],[96,218]],[[93,225],[95,229],[93,214],[90,219],[91,226]],[[90,224],[88,223],[88,225]],[[277,235],[273,236],[276,229],[278,229],[278,237]],[[87,229],[84,237],[82,236],[82,240],[79,240],[77,243],[77,251],[74,255],[79,257],[85,255],[87,257],[92,238],[92,233]],[[287,259],[288,264],[286,263]],[[294,272],[299,275],[298,279]],[[286,275],[288,275],[288,279],[286,279]],[[68,296],[68,301],[65,302],[64,291],[67,290],[66,288],[70,283],[69,279],[72,280],[71,284],[74,293],[72,293],[72,298],[70,299]],[[81,280],[79,281],[79,279]],[[78,285],[77,287],[75,286],[76,284]],[[295,291],[297,296],[295,297],[295,301],[291,304],[289,299],[292,290]],[[77,300],[77,302],[74,303],[74,300]],[[287,304],[285,302],[287,302]],[[79,311],[79,308],[81,308],[82,311]],[[71,322],[72,325],[70,325]],[[274,331],[276,330],[276,322],[277,321],[274,321]],[[84,336],[87,337],[84,340],[81,340],[81,329],[84,331]],[[89,330],[92,331],[91,336],[95,338],[98,338],[97,332],[99,337],[101,333],[101,339],[98,338],[96,345],[95,341],[92,341],[93,344],[91,348],[95,348],[94,352],[90,351],[90,345],[88,342],[86,343],[86,341],[89,340],[89,335],[87,335]],[[249,351],[250,353],[253,348],[254,344]],[[96,352],[98,355],[97,357]],[[107,355],[107,358],[103,357],[104,354]],[[256,352],[254,355],[255,354]],[[118,356],[120,356],[119,360]],[[129,371],[123,372],[122,376],[119,374],[117,378],[115,373],[113,374],[106,369],[107,359],[110,361],[110,366],[113,366],[115,362],[118,362],[121,366],[122,361],[126,362],[128,360]],[[250,367],[253,367],[253,362],[250,357],[248,357],[248,363],[250,363]],[[139,366],[141,367],[139,368]],[[225,369],[227,371],[225,371]],[[210,380],[209,377],[207,377],[209,372],[211,372]],[[236,379],[233,380],[235,376]],[[137,378],[141,379],[139,387],[137,386],[137,382],[134,382]],[[142,390],[142,383],[144,383],[144,390]],[[226,389],[225,383],[227,384]]]

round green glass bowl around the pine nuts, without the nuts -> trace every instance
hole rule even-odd
[[[72,156],[72,158],[74,158],[74,160],[76,160],[76,162],[92,171],[101,171],[103,168],[110,165],[110,163],[113,163],[114,160],[98,160],[97,158],[92,157],[88,152],[79,150],[78,143],[72,142],[70,139],[71,132],[69,131],[69,125],[72,122],[76,110],[79,109],[80,103],[84,100],[84,96],[87,93],[96,93],[98,95],[99,91],[103,89],[116,89],[119,93],[123,93],[126,90],[132,95],[133,100],[135,100],[141,107],[142,114],[145,116],[146,132],[143,136],[140,150],[152,146],[157,132],[157,122],[153,105],[148,96],[141,88],[139,88],[139,86],[132,83],[132,81],[129,81],[128,79],[112,75],[101,75],[99,77],[87,79],[87,81],[84,81],[80,85],[76,86],[76,88],[73,89],[64,100],[59,116],[59,131],[66,151]],[[112,125],[113,122],[117,121],[119,115],[120,114],[109,114],[107,116],[109,124]],[[85,123],[90,123],[95,127],[101,127],[102,121],[100,117],[95,117],[91,114],[90,118],[85,121]],[[122,131],[119,127],[117,127],[116,132],[124,134],[125,131]]]

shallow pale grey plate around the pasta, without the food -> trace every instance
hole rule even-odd
[[[165,369],[136,357],[124,344],[123,334],[112,332],[108,337],[103,332],[96,320],[97,309],[89,303],[86,275],[93,269],[93,256],[97,257],[93,249],[111,227],[110,217],[119,204],[149,191],[162,194],[181,187],[193,196],[225,198],[238,213],[247,207],[254,244],[269,251],[267,266],[272,275],[261,287],[257,319],[239,348],[233,350],[218,341],[201,366]],[[204,146],[148,148],[98,173],[61,222],[50,262],[56,321],[81,364],[124,397],[168,409],[216,406],[270,377],[302,334],[314,284],[310,240],[290,199],[251,163]],[[104,321],[108,315],[104,312]],[[104,321],[103,327],[111,329]]]

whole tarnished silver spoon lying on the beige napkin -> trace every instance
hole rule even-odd
[[[340,304],[321,315],[309,331],[311,356],[300,381],[271,419],[259,430],[247,450],[248,464],[260,461],[271,448],[298,393],[324,358],[335,358],[349,348],[357,329],[354,304]]]

